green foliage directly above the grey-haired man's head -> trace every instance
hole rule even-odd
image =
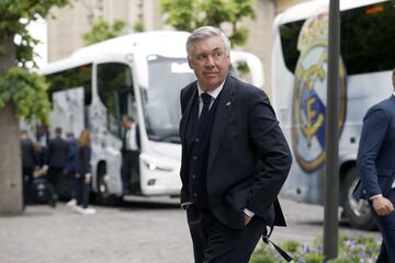
[[[166,23],[177,30],[189,31],[212,25],[230,27],[229,39],[234,45],[244,45],[248,30],[240,25],[245,18],[255,19],[256,0],[160,0]]]

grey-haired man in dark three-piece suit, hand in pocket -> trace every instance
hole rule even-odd
[[[266,93],[228,76],[229,50],[212,26],[187,42],[198,81],[181,91],[181,207],[196,263],[247,263],[267,226],[285,226],[290,149]]]

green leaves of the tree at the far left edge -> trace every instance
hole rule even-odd
[[[8,102],[13,102],[19,116],[45,121],[49,110],[46,96],[47,84],[37,73],[30,72],[29,67],[34,64],[33,48],[38,43],[27,32],[27,25],[40,18],[46,18],[53,7],[64,7],[69,0],[1,0],[0,3],[0,35],[8,39],[18,39],[16,54],[7,54],[4,47],[9,45],[7,38],[0,39],[0,61],[4,58],[16,58],[13,65],[3,66],[0,76],[0,108]],[[16,36],[16,37],[15,37]],[[8,68],[10,67],[10,68]]]

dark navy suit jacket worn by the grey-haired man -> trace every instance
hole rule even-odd
[[[181,203],[190,198],[185,126],[196,92],[196,82],[181,91]],[[217,100],[206,172],[213,214],[229,227],[244,228],[247,208],[268,225],[285,226],[276,196],[292,157],[268,96],[256,87],[227,77]]]

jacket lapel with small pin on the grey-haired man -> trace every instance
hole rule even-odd
[[[218,98],[218,108],[214,119],[213,132],[211,136],[207,174],[216,155],[218,153],[221,138],[225,132],[230,110],[234,106],[234,80],[228,77],[225,81],[223,90],[221,91],[222,94]]]

